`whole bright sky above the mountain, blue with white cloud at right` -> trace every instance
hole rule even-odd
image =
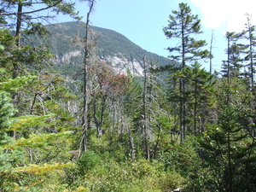
[[[93,26],[119,32],[143,49],[167,57],[166,48],[173,44],[162,29],[168,25],[172,10],[178,9],[178,3],[188,3],[192,13],[201,19],[204,34],[198,35],[199,39],[210,44],[213,32],[213,67],[217,70],[226,59],[225,32],[242,30],[247,22],[246,14],[252,15],[252,23],[256,20],[255,0],[98,0],[90,22]],[[87,3],[78,3],[77,9],[85,20]],[[207,63],[202,64],[207,67]]]

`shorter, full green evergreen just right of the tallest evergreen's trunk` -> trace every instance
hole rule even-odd
[[[185,96],[184,100],[187,104],[187,118],[186,124],[188,125],[188,134],[200,133],[204,131],[204,126],[210,118],[207,117],[207,113],[210,113],[214,107],[214,97],[212,93],[214,91],[213,85],[216,83],[213,81],[213,75],[207,73],[204,68],[201,68],[199,63],[195,63],[192,67],[184,67],[182,70],[173,73],[173,84],[179,86],[178,79],[182,77],[186,82],[186,90],[181,95],[177,89],[170,89],[168,91],[169,100],[175,108],[177,102]],[[176,123],[175,123],[176,124]],[[175,130],[177,131],[177,130]]]

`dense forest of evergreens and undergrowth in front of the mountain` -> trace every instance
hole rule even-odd
[[[226,32],[216,74],[201,67],[214,57],[197,39],[201,20],[179,3],[163,29],[179,42],[168,48],[170,64],[141,55],[138,77],[96,56],[95,0],[85,2],[84,35],[73,41],[84,55],[68,75],[51,63],[41,23],[79,20],[74,3],[0,3],[0,191],[256,191],[250,16],[243,31]]]

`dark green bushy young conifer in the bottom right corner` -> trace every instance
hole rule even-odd
[[[218,124],[204,132],[200,143],[206,151],[207,166],[212,168],[214,179],[219,181],[215,189],[253,191],[255,185],[245,178],[255,177],[252,172],[247,172],[249,162],[254,159],[254,138],[250,133],[246,112],[234,107],[223,109]]]

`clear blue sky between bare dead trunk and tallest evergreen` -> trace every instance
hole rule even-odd
[[[91,24],[120,32],[143,49],[167,56],[168,41],[162,31],[178,1],[98,0]],[[80,13],[82,13],[80,9]],[[85,19],[85,18],[84,18]]]

